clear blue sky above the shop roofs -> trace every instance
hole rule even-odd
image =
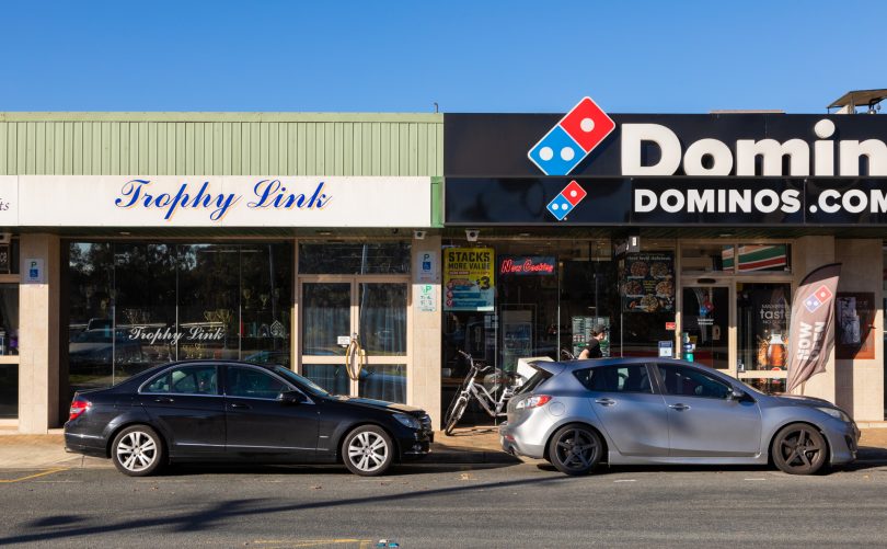
[[[0,111],[820,113],[887,88],[887,2],[0,4]],[[887,111],[885,111],[887,115]]]

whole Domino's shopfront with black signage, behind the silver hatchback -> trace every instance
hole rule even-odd
[[[457,348],[514,370],[521,356],[578,354],[595,328],[604,355],[692,358],[782,392],[794,291],[840,262],[838,344],[800,390],[883,421],[887,123],[607,123],[586,107],[445,118],[442,244],[458,253],[442,265],[444,400],[463,370]],[[486,291],[457,261],[472,251],[489,258]]]

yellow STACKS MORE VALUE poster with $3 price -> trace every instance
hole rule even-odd
[[[496,300],[492,248],[444,250],[444,310],[492,311]]]

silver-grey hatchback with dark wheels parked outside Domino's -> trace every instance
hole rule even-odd
[[[834,404],[758,392],[668,358],[533,364],[508,403],[503,448],[567,474],[610,465],[765,465],[811,474],[856,458],[860,431]]]

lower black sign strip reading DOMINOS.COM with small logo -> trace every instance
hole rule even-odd
[[[451,178],[446,185],[450,226],[887,225],[887,181],[876,179]],[[567,188],[581,198],[558,204]]]

